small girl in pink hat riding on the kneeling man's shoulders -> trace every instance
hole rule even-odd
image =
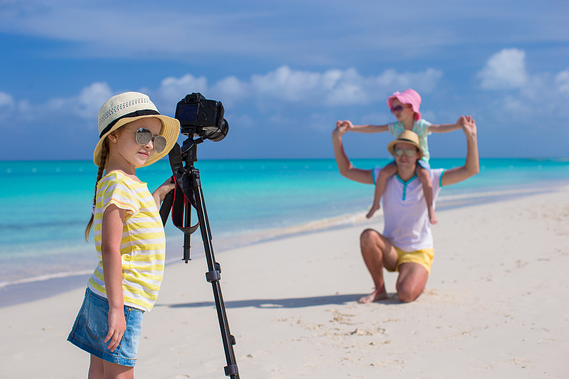
[[[427,144],[427,135],[431,132],[446,133],[453,130],[460,129],[459,122],[456,124],[431,124],[425,119],[421,119],[419,106],[421,104],[421,97],[417,91],[409,88],[403,92],[394,92],[393,95],[388,97],[387,105],[391,112],[398,119],[398,122],[392,122],[385,125],[353,125],[349,120],[344,121],[348,126],[348,131],[362,132],[362,133],[378,133],[390,132],[395,137],[398,137],[404,130],[412,130],[419,136],[419,141],[422,147],[423,156],[417,161],[417,176],[421,181],[425,201],[427,202],[427,210],[429,212],[429,219],[432,224],[437,223],[435,216],[435,208],[432,205],[432,183],[430,180],[429,166],[429,146]],[[460,119],[459,119],[460,120]],[[378,178],[376,179],[376,191],[373,196],[373,204],[371,209],[366,215],[371,218],[373,213],[380,208],[379,201],[385,191],[385,181],[390,176],[395,175],[397,166],[395,161],[390,162],[379,171]]]

